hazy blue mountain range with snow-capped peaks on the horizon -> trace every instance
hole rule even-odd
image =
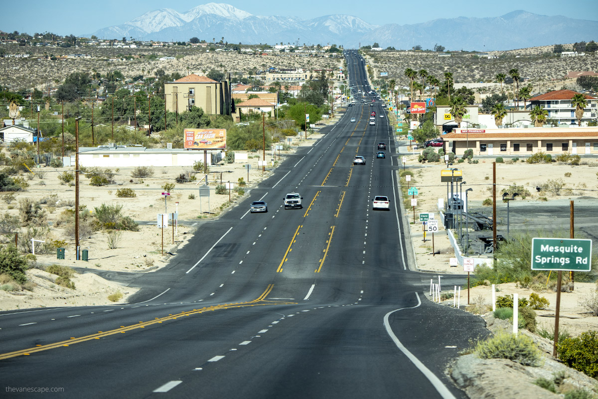
[[[255,16],[232,5],[208,3],[185,13],[170,8],[149,11],[122,25],[99,29],[93,35],[155,41],[188,41],[196,36],[206,41],[224,38],[230,43],[329,43],[347,48],[378,42],[384,48],[405,50],[414,45],[426,49],[439,44],[447,50],[489,51],[598,39],[598,21],[518,10],[499,17],[457,17],[378,26],[345,14],[300,20]]]

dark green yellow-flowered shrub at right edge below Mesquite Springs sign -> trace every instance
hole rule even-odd
[[[563,339],[557,348],[560,361],[590,377],[598,377],[598,331]]]

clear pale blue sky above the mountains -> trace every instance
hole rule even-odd
[[[0,22],[4,32],[53,32],[59,35],[90,34],[101,28],[120,25],[159,8],[172,8],[184,13],[190,8],[206,4],[206,0],[29,0],[27,13],[23,14],[20,2],[5,2],[5,17]],[[218,1],[215,1],[218,2]],[[586,20],[598,20],[598,0],[577,0],[575,5],[563,0],[377,0],[370,1],[279,1],[256,0],[219,1],[259,16],[296,16],[311,19],[329,14],[349,14],[360,17],[373,25],[396,23],[406,25],[439,18],[496,17],[511,11],[524,10],[541,15],[562,15]],[[93,4],[93,5],[87,5]]]

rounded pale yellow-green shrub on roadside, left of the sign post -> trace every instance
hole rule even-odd
[[[474,348],[481,359],[508,359],[523,366],[538,367],[541,365],[542,352],[533,340],[524,334],[499,331],[487,340],[479,341]]]

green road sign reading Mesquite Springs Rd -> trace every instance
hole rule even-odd
[[[592,240],[533,238],[532,270],[591,270]]]

